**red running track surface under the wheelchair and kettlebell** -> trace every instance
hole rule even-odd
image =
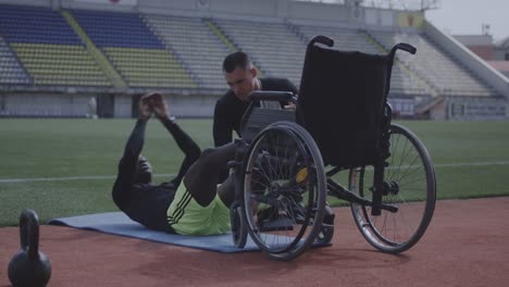
[[[336,209],[333,246],[278,262],[260,252],[216,253],[69,227],[41,226],[49,286],[509,286],[509,198],[438,201],[411,250],[375,251],[349,209]],[[20,249],[0,228],[0,286]]]

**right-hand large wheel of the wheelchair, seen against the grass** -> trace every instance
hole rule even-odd
[[[382,203],[398,210],[382,210],[374,216],[371,207],[352,203],[351,211],[368,242],[383,252],[399,253],[415,245],[426,230],[435,209],[436,182],[430,154],[418,137],[399,125],[392,125],[389,134]],[[350,170],[350,191],[371,200],[373,174],[371,166]]]

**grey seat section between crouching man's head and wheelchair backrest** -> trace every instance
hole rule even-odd
[[[306,43],[289,24],[224,18],[214,23],[265,76],[286,77],[300,85]]]

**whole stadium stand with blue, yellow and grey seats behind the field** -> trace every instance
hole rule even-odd
[[[348,3],[198,2],[0,0],[0,116],[86,116],[91,99],[99,116],[133,116],[139,95],[151,90],[167,93],[179,116],[211,116],[227,89],[227,53],[246,51],[261,76],[299,86],[307,42],[326,35],[346,51],[387,53],[400,41],[418,48],[397,53],[393,68],[389,101],[399,115],[509,118],[507,78],[423,13],[412,26],[400,21],[407,11]],[[499,113],[487,115],[493,110]]]

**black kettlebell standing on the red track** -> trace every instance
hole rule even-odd
[[[20,216],[21,250],[9,262],[9,279],[15,287],[46,286],[51,277],[51,263],[39,252],[39,219],[33,210]]]

